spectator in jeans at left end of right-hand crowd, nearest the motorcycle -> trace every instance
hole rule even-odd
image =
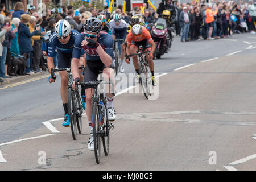
[[[187,13],[187,6],[183,7],[183,11],[180,13],[180,27],[182,29],[181,42],[188,41],[188,31],[189,31],[189,15]]]

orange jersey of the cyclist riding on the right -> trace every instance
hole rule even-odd
[[[150,32],[147,31],[147,28],[142,27],[142,36],[140,38],[135,38],[133,33],[130,31],[127,35],[127,45],[131,46],[132,42],[137,44],[145,44],[147,42],[152,43],[154,40],[151,38]]]

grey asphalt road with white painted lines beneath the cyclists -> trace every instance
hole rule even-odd
[[[110,152],[98,165],[87,148],[86,115],[76,141],[61,126],[60,77],[0,88],[0,170],[256,170],[255,50],[249,33],[175,38],[155,60],[155,97],[135,93],[139,86],[126,77],[129,93],[114,98]]]

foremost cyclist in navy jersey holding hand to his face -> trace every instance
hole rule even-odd
[[[81,49],[86,54],[86,67],[85,67],[85,75],[84,81],[94,81],[97,80],[99,75],[99,71],[102,71],[102,75],[104,77],[104,81],[109,81],[110,79],[113,81],[114,75],[114,65],[112,64],[113,60],[113,39],[112,36],[107,34],[106,32],[101,31],[102,24],[101,20],[98,18],[91,17],[86,19],[84,23],[84,32],[79,34],[76,37],[75,46],[73,48],[72,54],[72,62],[71,62],[71,71],[72,76],[75,78],[73,82],[73,88],[75,88],[75,84],[80,83],[80,77],[78,73],[78,63]],[[109,121],[114,121],[116,118],[116,113],[113,107],[114,100],[114,90],[110,88],[110,85],[106,85],[109,88],[105,88],[109,90],[106,92],[107,96],[107,113]],[[112,85],[114,86],[114,85]],[[113,92],[112,92],[113,91]],[[86,93],[86,103],[85,103],[85,111],[88,118],[89,126],[92,131],[92,86],[85,86]],[[89,142],[88,142],[89,150],[94,150],[93,145],[93,134],[91,132]]]

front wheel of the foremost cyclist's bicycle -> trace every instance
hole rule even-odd
[[[92,124],[93,124],[93,144],[94,144],[94,154],[96,163],[100,163],[101,159],[101,135],[100,135],[100,119],[98,117],[98,105],[96,102],[93,104],[92,109]]]

